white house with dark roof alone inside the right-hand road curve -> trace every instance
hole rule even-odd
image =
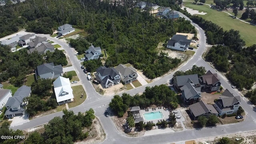
[[[167,42],[167,48],[174,50],[186,51],[190,45],[191,40],[187,39],[187,36],[180,34],[174,34],[171,40]]]

